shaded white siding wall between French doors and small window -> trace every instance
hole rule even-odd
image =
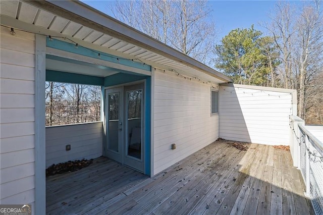
[[[209,84],[155,71],[154,174],[218,139],[219,116],[210,115],[210,90]]]

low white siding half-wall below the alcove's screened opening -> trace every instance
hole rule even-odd
[[[46,168],[52,164],[102,156],[102,122],[46,127]],[[71,150],[66,151],[66,145]]]

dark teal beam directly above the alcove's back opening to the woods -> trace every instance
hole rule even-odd
[[[76,73],[46,70],[46,81],[64,82],[72,84],[104,85],[104,78]]]

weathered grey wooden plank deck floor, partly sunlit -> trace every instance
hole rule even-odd
[[[48,214],[313,214],[290,152],[217,141],[153,178],[100,157],[46,180]]]

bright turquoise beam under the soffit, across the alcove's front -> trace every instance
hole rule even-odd
[[[101,51],[97,51],[97,50],[93,50],[90,48],[85,48],[82,46],[78,46],[78,48],[75,48],[75,44],[69,43],[69,42],[64,42],[61,40],[57,40],[57,39],[52,39],[50,40],[48,37],[46,37],[46,46],[50,47],[50,48],[56,48],[59,50],[63,50],[63,51],[68,51],[71,53],[76,53],[78,55],[82,55],[82,56],[86,56],[86,57],[90,57],[90,58],[98,58],[98,53],[100,53],[100,60],[103,61],[107,61],[107,62],[112,62],[112,63],[116,63],[116,64],[121,64],[124,66],[128,66],[128,67],[133,67],[136,69],[141,69],[141,70],[145,70],[145,71],[151,71],[151,67],[149,65],[146,64],[142,64],[139,62],[135,62],[135,61],[131,61],[128,59],[123,59],[121,57],[118,56],[114,56],[114,55],[110,55]],[[120,59],[118,59],[120,58]]]

